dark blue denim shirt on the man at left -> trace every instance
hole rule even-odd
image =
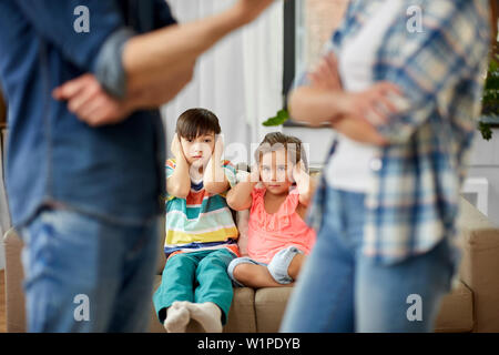
[[[77,32],[79,0],[0,1],[0,82],[9,103],[6,185],[14,226],[55,205],[121,224],[162,212],[164,133],[157,110],[91,128],[55,101],[85,72],[120,97],[121,51],[136,34],[175,23],[163,0],[89,0],[90,32]],[[78,14],[75,14],[78,13]]]

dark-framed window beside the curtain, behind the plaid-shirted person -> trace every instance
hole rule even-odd
[[[287,0],[284,2],[284,77],[286,98],[294,78],[319,58],[345,13],[348,0]],[[303,125],[287,121],[284,125]]]

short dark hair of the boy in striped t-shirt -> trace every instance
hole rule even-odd
[[[176,134],[186,140],[193,140],[203,134],[220,134],[218,119],[206,109],[190,109],[182,113],[176,121]]]

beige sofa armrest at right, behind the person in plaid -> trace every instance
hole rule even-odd
[[[473,332],[499,332],[499,229],[462,200],[460,278],[473,293]]]

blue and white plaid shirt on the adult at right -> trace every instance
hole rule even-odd
[[[377,126],[389,144],[376,148],[363,253],[384,264],[425,253],[457,233],[490,45],[489,0],[400,1],[407,6],[395,17],[373,65],[374,80],[397,84],[409,108]],[[381,3],[350,1],[329,50],[340,52]],[[418,20],[409,11],[413,6],[422,10],[422,32],[408,30]],[[323,176],[308,213],[317,230],[325,185]]]

